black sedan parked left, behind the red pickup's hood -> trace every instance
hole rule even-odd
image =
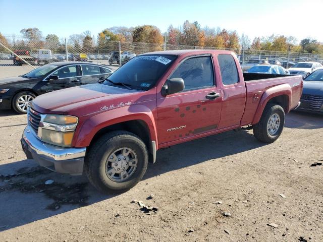
[[[25,75],[0,79],[0,109],[13,108],[26,113],[38,95],[55,90],[100,82],[113,71],[84,62],[56,62],[39,67]]]

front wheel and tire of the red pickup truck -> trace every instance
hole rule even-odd
[[[123,156],[124,150],[129,152],[128,156]],[[130,165],[131,160],[135,160],[136,164],[132,162]],[[141,180],[147,165],[148,152],[142,140],[127,131],[113,131],[103,135],[90,147],[85,158],[85,173],[101,193],[124,192]],[[123,172],[127,172],[128,177]]]

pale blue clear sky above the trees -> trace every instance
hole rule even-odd
[[[250,39],[292,35],[323,42],[323,0],[0,0],[0,32],[19,35],[23,28],[42,34],[68,37],[90,30],[92,35],[113,26],[155,25],[161,32],[185,20],[204,27],[220,27],[244,33]]]

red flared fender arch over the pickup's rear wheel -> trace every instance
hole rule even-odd
[[[268,101],[271,100],[274,97],[281,96],[281,95],[287,95],[288,96],[288,110],[290,110],[291,106],[291,96],[292,96],[292,88],[289,84],[282,84],[275,87],[268,88],[261,96],[259,105],[257,107],[256,113],[253,117],[252,124],[257,124],[261,118],[263,109],[267,105]],[[286,110],[285,110],[286,111]]]

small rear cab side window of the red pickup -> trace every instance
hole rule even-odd
[[[219,54],[222,83],[224,85],[236,84],[239,82],[239,75],[236,62],[231,54]]]

